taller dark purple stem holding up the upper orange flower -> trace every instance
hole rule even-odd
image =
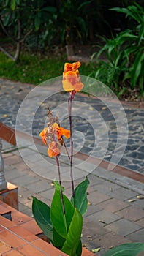
[[[70,178],[72,184],[72,197],[73,200],[75,198],[75,191],[74,191],[74,179],[72,173],[72,158],[73,158],[73,141],[72,141],[72,98],[69,97],[67,100],[68,103],[68,110],[69,110],[69,127],[70,127]]]

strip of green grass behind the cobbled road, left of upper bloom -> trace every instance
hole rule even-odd
[[[77,60],[75,60],[77,61]],[[38,85],[62,75],[67,56],[42,56],[39,53],[22,53],[17,62],[0,52],[0,78]],[[91,65],[81,64],[80,75],[91,73]]]

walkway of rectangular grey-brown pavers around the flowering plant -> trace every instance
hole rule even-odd
[[[25,140],[25,145],[21,148],[23,155],[27,159],[31,159],[33,165],[39,170],[44,170],[44,161],[38,166],[37,152],[30,146],[29,140]],[[45,146],[42,146],[45,151]],[[10,150],[10,144],[3,142],[5,176],[7,181],[18,186],[18,205],[19,211],[31,217],[31,195],[39,200],[47,203],[49,206],[53,197],[53,186],[50,178],[43,178],[34,173],[23,159],[17,148]],[[41,148],[42,149],[42,148]],[[9,153],[8,153],[9,152]],[[34,161],[33,161],[34,159]],[[53,159],[54,161],[54,159]],[[74,162],[79,161],[75,159]],[[89,164],[90,165],[90,164]],[[86,162],[84,164],[86,167]],[[49,177],[49,167],[47,165],[47,173]],[[76,173],[80,171],[80,167],[75,167]],[[74,170],[74,171],[75,171]],[[83,171],[83,167],[81,168]],[[53,176],[55,173],[51,170]],[[68,172],[67,172],[68,175]],[[129,242],[143,242],[144,234],[144,191],[143,187],[137,190],[137,183],[131,189],[124,184],[116,183],[121,175],[105,170],[102,167],[96,167],[93,173],[88,174],[90,186],[88,187],[88,211],[83,219],[83,236],[82,243],[88,249],[99,248],[98,256],[102,256],[105,251]],[[126,177],[125,177],[126,178]],[[83,178],[75,181],[77,185]],[[65,194],[70,197],[72,195],[71,184],[69,181],[63,182]],[[141,184],[142,186],[143,184]],[[135,190],[134,190],[135,188]],[[140,254],[144,256],[144,252]]]

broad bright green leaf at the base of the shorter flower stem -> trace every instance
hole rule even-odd
[[[69,199],[63,194],[64,209],[63,211],[61,192],[55,190],[53,195],[53,200],[50,209],[50,219],[56,232],[63,238],[67,238],[67,233],[69,229],[70,222],[74,214],[74,207]]]

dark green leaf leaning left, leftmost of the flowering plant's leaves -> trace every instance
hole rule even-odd
[[[53,226],[50,221],[50,207],[36,197],[32,197],[32,213],[37,225],[50,241],[53,241]]]

